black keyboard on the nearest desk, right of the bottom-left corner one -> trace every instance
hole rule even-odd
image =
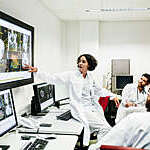
[[[43,139],[35,139],[34,142],[29,142],[23,150],[44,150],[45,146],[47,145],[48,141]]]

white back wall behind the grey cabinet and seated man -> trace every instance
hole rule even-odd
[[[71,25],[71,22],[66,24]],[[150,21],[81,21],[79,24],[73,30],[77,31],[80,40],[76,45],[72,44],[72,50],[79,47],[79,53],[96,53],[99,64],[94,74],[98,82],[102,83],[103,76],[111,72],[111,59],[130,59],[134,80],[142,73],[150,73]],[[67,38],[68,43],[70,38]]]

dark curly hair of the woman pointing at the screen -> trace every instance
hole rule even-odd
[[[97,66],[97,60],[90,54],[82,54],[78,57],[77,64],[80,62],[80,58],[82,56],[84,56],[88,62],[88,65],[89,65],[88,70],[93,71]]]

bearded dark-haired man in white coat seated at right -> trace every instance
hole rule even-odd
[[[115,122],[118,123],[122,118],[132,112],[143,112],[148,90],[150,85],[150,75],[145,73],[139,79],[138,84],[127,84],[122,91],[122,101],[117,111]]]

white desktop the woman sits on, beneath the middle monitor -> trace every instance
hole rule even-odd
[[[66,109],[65,109],[66,111]],[[50,123],[51,127],[40,127],[39,132],[42,133],[60,133],[60,134],[73,134],[80,135],[83,129],[83,125],[75,120],[69,119],[68,121],[57,120],[56,115],[65,112],[63,109],[54,108],[46,115],[42,117],[31,116],[39,123]],[[28,129],[25,129],[28,130]]]

